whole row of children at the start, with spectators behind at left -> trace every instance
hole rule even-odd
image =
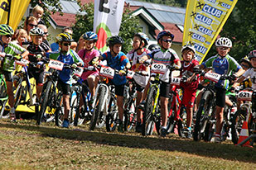
[[[43,11],[42,11],[43,12]],[[24,59],[28,59],[32,62],[40,61],[41,58],[38,54],[46,55],[46,57],[51,59],[57,59],[65,64],[78,64],[88,67],[89,64],[97,63],[99,60],[106,60],[107,65],[111,68],[119,70],[119,74],[115,75],[111,80],[115,86],[115,94],[117,95],[118,103],[118,116],[119,116],[119,131],[123,131],[123,91],[124,85],[126,84],[126,78],[123,75],[123,71],[127,69],[133,69],[134,71],[145,71],[150,74],[150,68],[144,64],[142,61],[151,59],[152,63],[161,63],[165,65],[176,65],[177,68],[181,68],[181,75],[186,73],[186,83],[181,83],[183,88],[183,100],[182,105],[186,106],[186,136],[191,138],[191,122],[194,112],[194,103],[196,99],[197,86],[199,84],[199,78],[197,78],[194,73],[196,69],[203,69],[212,67],[213,72],[220,74],[229,74],[234,72],[234,77],[241,77],[237,80],[238,83],[242,83],[245,78],[250,78],[252,80],[252,87],[256,89],[256,51],[253,50],[249,53],[248,59],[244,59],[244,63],[247,64],[249,68],[245,73],[244,69],[235,61],[234,58],[229,56],[229,50],[232,47],[232,42],[228,38],[221,37],[215,41],[215,46],[217,54],[215,56],[207,59],[203,64],[198,63],[195,59],[196,49],[193,45],[185,45],[181,49],[182,61],[176,54],[176,51],[171,49],[171,42],[174,39],[174,35],[171,31],[161,31],[157,35],[157,44],[160,48],[155,48],[150,51],[147,50],[148,37],[144,33],[136,33],[133,36],[133,50],[128,54],[123,54],[122,45],[123,39],[116,35],[109,37],[107,40],[107,45],[109,46],[109,51],[100,54],[98,50],[94,47],[98,40],[98,35],[92,31],[85,32],[81,35],[81,40],[84,46],[76,54],[75,50],[71,50],[71,45],[74,42],[71,36],[71,32],[64,31],[56,37],[57,43],[53,45],[52,48],[56,48],[54,52],[51,52],[51,48],[45,42],[43,42],[43,37],[46,32],[41,28],[37,27],[39,23],[44,24],[41,21],[41,8],[33,12],[35,18],[27,18],[26,29],[29,32],[29,38],[26,35],[26,31],[18,30],[16,33],[16,41],[12,40],[12,35],[14,31],[11,26],[0,25],[0,56],[2,57],[2,73],[4,74],[7,82],[7,94],[9,97],[9,105],[11,106],[10,116],[12,120],[15,120],[15,108],[13,106],[14,97],[12,92],[12,71],[14,70],[13,59],[5,58],[6,54],[20,55]],[[27,43],[25,43],[27,42]],[[23,47],[25,48],[23,48]],[[243,66],[243,63],[241,64]],[[36,79],[36,93],[37,96],[41,96],[41,89],[44,79],[44,67],[29,68],[29,73],[31,77]],[[243,74],[244,73],[244,74]],[[162,129],[161,136],[165,137],[167,135],[167,116],[168,116],[168,102],[169,102],[169,92],[171,89],[171,84],[169,80],[170,71],[160,75],[161,85],[160,85],[160,104],[161,104],[161,116],[162,116]],[[82,74],[83,80],[87,81],[89,84],[89,90],[92,94],[92,100],[94,99],[95,87],[99,82],[98,71],[89,71]],[[137,90],[136,106],[141,106],[143,108],[145,100],[147,97],[147,90],[150,85],[150,77],[136,75],[134,77]],[[64,69],[60,72],[60,87],[63,89],[64,93],[64,106],[65,106],[65,116],[63,127],[69,127],[68,114],[70,111],[70,70]],[[215,94],[216,94],[216,132],[215,132],[215,142],[221,141],[220,130],[223,124],[223,111],[225,106],[225,91],[227,83],[225,81],[219,81],[215,83]],[[142,130],[142,111],[137,110],[137,125],[136,131],[141,132]]]

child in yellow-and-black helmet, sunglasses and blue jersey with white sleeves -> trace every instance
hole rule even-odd
[[[60,33],[59,35],[57,35],[56,39],[59,42],[60,51],[46,53],[47,58],[59,60],[62,63],[70,64],[73,67],[84,64],[82,59],[80,59],[79,55],[76,54],[74,50],[70,50],[70,45],[73,39],[69,33]],[[71,73],[72,70],[63,68],[62,71],[60,71],[58,80],[58,87],[60,87],[63,92],[64,120],[62,126],[65,128],[68,128],[70,125],[68,119],[70,113]]]

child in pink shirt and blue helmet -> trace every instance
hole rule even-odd
[[[94,32],[89,31],[85,32],[82,35],[85,40],[85,49],[82,49],[78,52],[81,59],[83,59],[85,68],[89,66],[89,62],[95,57],[99,57],[99,51],[94,50],[94,46],[98,40],[98,35]],[[97,83],[99,82],[99,72],[98,71],[87,71],[82,74],[81,77],[84,81],[87,80],[89,84],[89,91],[91,92],[91,102],[94,101],[95,89],[97,87]]]

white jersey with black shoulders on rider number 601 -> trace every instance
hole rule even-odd
[[[152,59],[152,63],[161,63],[165,65],[173,65],[180,61],[175,50],[152,50],[150,54],[147,54],[148,57]],[[160,74],[159,78],[163,82],[169,83],[170,70],[167,70],[167,73]]]

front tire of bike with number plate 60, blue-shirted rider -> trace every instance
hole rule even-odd
[[[90,120],[90,124],[89,124],[89,130],[94,130],[95,126],[97,124],[97,121],[99,121],[99,115],[102,114],[99,111],[99,108],[101,108],[104,105],[104,96],[107,95],[106,94],[107,89],[104,86],[100,86],[99,87],[99,92],[96,96],[96,103],[94,105],[94,111],[92,113],[92,117]]]

